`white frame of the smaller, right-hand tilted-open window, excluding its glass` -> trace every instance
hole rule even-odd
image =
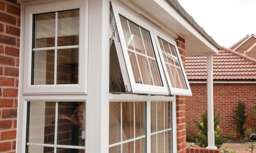
[[[175,39],[172,36],[167,36],[166,34],[163,34],[163,32],[160,32],[157,29],[153,29],[153,31],[154,31],[154,36],[155,36],[155,40],[156,40],[156,43],[157,43],[158,52],[159,52],[160,59],[161,59],[161,62],[162,62],[162,66],[163,66],[163,69],[164,69],[164,72],[165,72],[165,76],[166,76],[166,80],[167,80],[167,83],[168,83],[168,86],[169,86],[170,93],[173,94],[173,95],[191,96],[192,92],[191,92],[191,89],[190,89],[190,86],[189,86],[189,83],[188,83],[188,80],[187,80],[185,69],[184,69],[184,66],[182,64],[179,49],[177,47],[177,43],[176,43]],[[158,41],[158,37],[162,38],[163,40],[165,40],[168,43],[175,46],[175,52],[177,54],[178,62],[180,64],[181,72],[183,74],[185,85],[186,85],[187,89],[172,87],[172,83],[170,81],[169,74],[168,74],[168,71],[167,71],[167,68],[166,68],[166,65],[165,65],[165,61],[164,61],[163,54],[162,54],[162,51],[161,51],[161,47],[160,47],[160,44],[159,44],[159,41]]]

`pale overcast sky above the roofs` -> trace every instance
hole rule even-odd
[[[178,0],[221,46],[256,34],[256,0]]]

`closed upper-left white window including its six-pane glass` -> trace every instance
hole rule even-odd
[[[26,7],[25,94],[86,93],[86,2]]]

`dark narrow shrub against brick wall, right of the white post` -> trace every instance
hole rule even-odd
[[[246,113],[246,107],[243,101],[239,101],[237,109],[234,111],[234,124],[237,125],[237,132],[240,134],[240,138],[244,138],[244,124],[246,121],[247,116]]]

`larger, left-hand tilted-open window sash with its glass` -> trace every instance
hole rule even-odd
[[[131,87],[133,93],[168,95],[152,27],[126,8],[113,2],[111,5],[116,23],[115,38],[120,41],[119,46],[115,44],[126,91]]]

